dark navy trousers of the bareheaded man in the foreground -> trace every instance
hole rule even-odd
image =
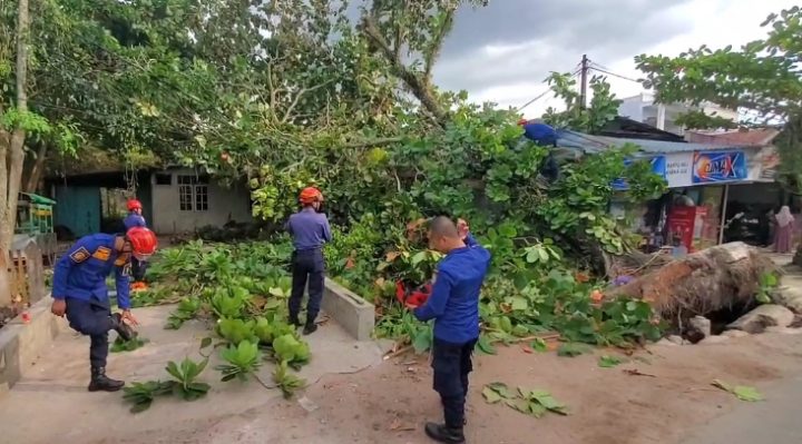
[[[452,344],[434,338],[432,344],[432,369],[434,391],[440,394],[446,426],[462,428],[464,403],[468,396],[468,375],[473,371],[473,346],[477,339]]]

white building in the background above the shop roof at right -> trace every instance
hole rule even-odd
[[[710,102],[702,103],[697,107],[683,103],[655,103],[654,93],[652,92],[642,92],[637,96],[623,99],[622,105],[618,107],[618,115],[652,125],[668,132],[684,135],[685,129],[676,125],[675,120],[677,116],[693,110],[702,110],[707,115],[715,114],[717,117],[735,121],[739,119],[737,110],[726,109]]]

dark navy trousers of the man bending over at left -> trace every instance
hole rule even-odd
[[[114,329],[108,302],[67,298],[67,320],[70,327],[89,336],[89,363],[92,368],[106,367],[108,333]]]

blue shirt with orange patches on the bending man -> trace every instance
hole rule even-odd
[[[52,297],[108,304],[106,277],[115,272],[117,305],[130,308],[127,268],[130,255],[115,248],[116,235],[84,236],[61,256],[53,272]]]

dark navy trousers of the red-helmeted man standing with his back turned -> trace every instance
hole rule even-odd
[[[301,313],[301,299],[309,283],[309,304],[306,305],[306,324],[312,324],[320,313],[323,300],[323,282],[325,280],[325,260],[322,249],[293,253],[293,285],[290,294],[290,318],[297,318]]]

